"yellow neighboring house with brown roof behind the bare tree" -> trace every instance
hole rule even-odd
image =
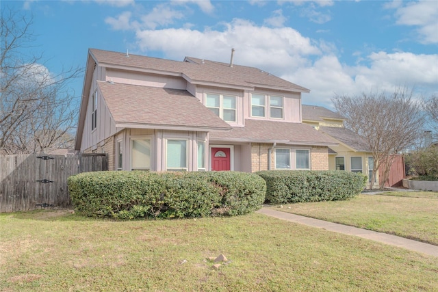
[[[302,122],[310,124],[339,143],[329,149],[329,169],[366,174],[369,187],[374,167],[372,152],[363,137],[344,128],[344,120],[343,116],[325,107],[302,105]],[[382,179],[381,172],[383,170],[379,168],[374,187],[378,187],[378,182]],[[402,178],[404,178],[404,159],[402,155],[397,155],[391,165],[389,179],[385,185],[400,185]]]

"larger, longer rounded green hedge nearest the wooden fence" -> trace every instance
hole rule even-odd
[[[120,219],[241,215],[266,194],[265,181],[244,172],[85,172],[67,183],[77,211]]]

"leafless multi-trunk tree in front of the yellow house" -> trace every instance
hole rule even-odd
[[[412,96],[411,90],[398,88],[391,94],[370,92],[332,99],[335,109],[347,118],[346,128],[368,142],[374,159],[371,181],[375,181],[378,168],[384,166],[380,187],[387,181],[394,154],[415,144],[421,133],[424,116]]]

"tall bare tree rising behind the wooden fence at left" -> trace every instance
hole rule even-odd
[[[75,96],[68,82],[79,69],[52,75],[33,49],[31,20],[1,10],[0,153],[44,152],[60,142],[73,143]],[[67,139],[67,140],[66,140]]]

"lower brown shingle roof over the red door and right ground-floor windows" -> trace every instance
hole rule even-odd
[[[294,145],[335,146],[331,137],[316,131],[308,124],[245,120],[245,127],[235,127],[231,132],[210,133],[210,140],[235,142],[278,142]]]

